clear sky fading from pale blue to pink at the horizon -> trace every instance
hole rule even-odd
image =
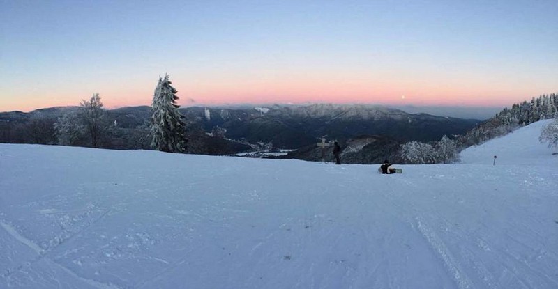
[[[0,111],[179,104],[509,107],[558,91],[558,1],[3,1]],[[203,3],[202,3],[203,2]]]

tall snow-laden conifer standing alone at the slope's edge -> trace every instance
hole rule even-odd
[[[176,100],[176,89],[169,75],[159,77],[153,104],[151,104],[151,147],[167,153],[183,153],[186,150],[185,126]]]

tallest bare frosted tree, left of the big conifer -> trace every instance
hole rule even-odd
[[[105,117],[106,112],[103,109],[103,102],[100,101],[98,93],[94,93],[89,101],[82,100],[79,114],[84,125],[85,134],[91,141],[91,146],[98,148],[103,134],[107,132],[109,127]]]

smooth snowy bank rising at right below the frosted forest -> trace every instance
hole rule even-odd
[[[557,164],[558,157],[546,143],[538,141],[541,129],[552,120],[541,120],[521,127],[506,136],[472,146],[460,153],[461,164],[536,165]]]

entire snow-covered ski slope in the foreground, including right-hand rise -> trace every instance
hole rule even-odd
[[[395,175],[0,144],[0,288],[558,288],[540,127]]]

